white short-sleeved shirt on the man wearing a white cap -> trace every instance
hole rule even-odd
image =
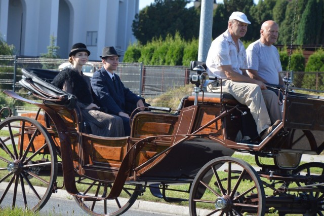
[[[239,51],[228,30],[219,35],[213,42],[208,51],[206,66],[207,73],[221,79],[227,79],[222,65],[232,65],[234,71],[242,74],[241,69],[247,69],[246,50],[243,43],[238,40]]]

